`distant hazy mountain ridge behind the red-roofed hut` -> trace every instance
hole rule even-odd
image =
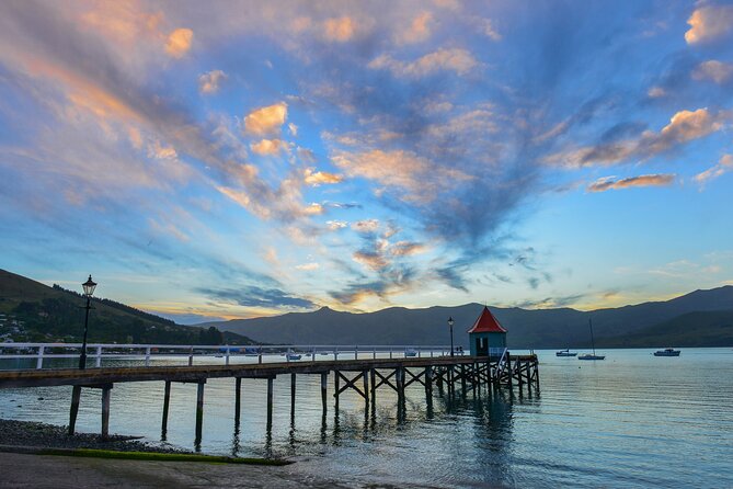
[[[478,318],[482,308],[482,305],[473,303],[424,309],[391,307],[375,312],[352,314],[324,307],[311,312],[289,312],[199,326],[215,326],[267,343],[428,345],[449,342],[446,321],[450,316],[456,321],[454,327],[456,344],[467,346],[466,331]],[[490,308],[508,329],[507,341],[511,348],[585,348],[589,345],[589,318],[593,319],[598,344],[606,346],[623,346],[628,344],[625,339],[630,337],[634,338],[633,343],[637,345],[667,344],[663,341],[665,336],[660,336],[660,331],[653,328],[673,320],[676,322],[671,325],[675,328],[686,328],[685,334],[674,336],[677,341],[684,340],[685,344],[669,344],[694,345],[698,343],[695,338],[695,321],[703,315],[690,314],[709,311],[720,311],[718,318],[722,325],[717,330],[719,334],[708,338],[706,345],[733,345],[733,341],[724,333],[725,323],[733,323],[733,315],[726,312],[733,311],[733,286],[730,285],[695,291],[665,302],[593,311],[571,308]],[[646,340],[644,334],[649,337]],[[648,344],[644,344],[645,342]]]

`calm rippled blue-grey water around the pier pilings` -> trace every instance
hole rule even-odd
[[[355,393],[321,417],[320,377],[298,376],[295,424],[289,376],[275,380],[273,430],[265,380],[242,382],[234,432],[233,379],[206,385],[202,451],[286,456],[288,470],[357,482],[438,487],[733,487],[733,350],[607,350],[603,362],[540,355],[541,394],[508,394],[432,408],[422,386],[377,393],[375,417]],[[332,389],[330,377],[329,396]],[[163,383],[118,384],[111,430],[160,441]],[[0,417],[68,422],[70,387],[0,390]],[[43,398],[43,400],[39,400]],[[168,443],[194,447],[195,385],[174,384]],[[100,394],[84,389],[80,431],[98,432]]]

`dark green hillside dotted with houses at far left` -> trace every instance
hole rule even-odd
[[[83,334],[81,294],[0,270],[0,341],[79,342]],[[169,344],[253,344],[216,328],[180,326],[124,304],[92,298],[89,342]]]

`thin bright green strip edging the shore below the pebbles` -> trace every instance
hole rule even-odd
[[[208,464],[245,464],[283,466],[291,462],[277,458],[237,458],[217,455],[198,455],[185,453],[156,453],[156,452],[116,452],[113,450],[91,448],[44,448],[38,455],[60,455],[69,457],[116,458],[126,460],[157,460],[157,462],[204,462]]]

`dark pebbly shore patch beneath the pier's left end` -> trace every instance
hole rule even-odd
[[[94,448],[117,452],[191,453],[170,445],[141,442],[134,436],[77,433],[69,436],[67,427],[31,421],[0,420],[0,445],[43,448]]]

